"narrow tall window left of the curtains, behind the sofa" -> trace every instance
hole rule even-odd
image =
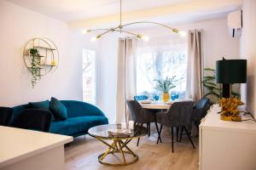
[[[96,105],[96,52],[83,49],[83,101]]]

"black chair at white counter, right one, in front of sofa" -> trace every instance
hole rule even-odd
[[[12,127],[49,132],[51,113],[41,109],[26,109],[15,117]]]

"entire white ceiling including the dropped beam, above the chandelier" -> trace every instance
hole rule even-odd
[[[8,0],[75,29],[117,26],[119,0]],[[178,24],[226,17],[242,0],[122,0],[124,22]]]

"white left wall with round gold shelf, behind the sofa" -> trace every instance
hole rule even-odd
[[[0,105],[29,101],[82,99],[82,39],[67,25],[42,14],[0,1]],[[49,37],[60,52],[58,69],[31,88],[22,50],[32,37]]]

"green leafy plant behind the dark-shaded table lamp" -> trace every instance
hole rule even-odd
[[[222,98],[222,85],[215,81],[215,70],[211,68],[204,69],[203,81],[201,82],[205,88],[207,88],[207,94],[204,96],[213,96],[218,100]],[[240,94],[232,91],[232,97],[240,98]]]

